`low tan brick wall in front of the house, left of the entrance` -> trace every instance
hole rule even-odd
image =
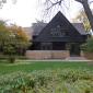
[[[30,59],[65,59],[70,56],[69,50],[26,50]]]

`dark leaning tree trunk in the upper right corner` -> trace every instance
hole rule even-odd
[[[89,19],[92,32],[93,32],[93,15],[92,15],[92,11],[91,11],[91,9],[89,7],[88,0],[75,0],[75,1],[82,3],[82,5],[84,8],[84,11],[85,11],[85,14],[86,14],[86,16]]]

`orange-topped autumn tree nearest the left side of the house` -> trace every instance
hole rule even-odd
[[[30,38],[25,31],[21,26],[13,25],[10,27],[10,31],[13,33],[15,39],[15,47],[18,48],[19,55],[24,55],[26,48],[30,45]]]

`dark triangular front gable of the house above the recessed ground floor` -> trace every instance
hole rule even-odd
[[[60,31],[57,30],[58,26],[60,26]],[[55,30],[54,30],[55,28]],[[58,35],[56,37],[54,37],[51,35],[51,32],[56,32],[57,34],[61,33],[69,33],[68,37],[66,37],[67,35]],[[53,20],[39,32],[39,34],[37,35],[37,37],[34,40],[37,42],[63,42],[67,40],[69,42],[74,40],[74,39],[81,39],[82,38],[82,34],[78,31],[78,28],[75,26],[73,26],[66,18],[65,15],[59,11],[54,18]],[[84,34],[85,35],[85,34]]]

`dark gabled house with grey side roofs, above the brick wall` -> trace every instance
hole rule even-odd
[[[80,45],[85,43],[86,33],[82,23],[70,23],[61,12],[46,24],[35,24],[31,50],[67,50],[80,56]]]

